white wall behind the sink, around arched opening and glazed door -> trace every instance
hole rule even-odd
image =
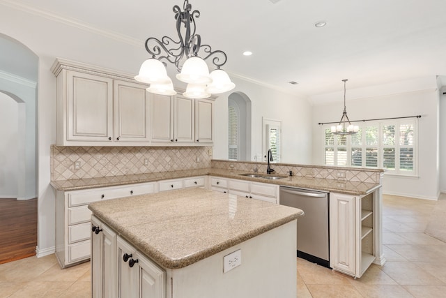
[[[311,163],[312,161],[312,106],[305,98],[263,87],[254,82],[231,78],[236,89],[252,102],[251,157],[262,152],[262,117],[282,121],[282,163]],[[228,158],[228,94],[215,100],[214,159]],[[259,159],[258,159],[259,161]]]

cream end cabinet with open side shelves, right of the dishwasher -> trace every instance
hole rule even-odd
[[[330,267],[360,278],[375,260],[379,241],[376,198],[330,193]],[[377,212],[376,212],[377,213]]]

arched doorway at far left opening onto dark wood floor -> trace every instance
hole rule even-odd
[[[0,263],[36,254],[38,57],[0,34]]]

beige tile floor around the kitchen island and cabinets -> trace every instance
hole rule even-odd
[[[355,280],[298,258],[298,297],[446,297],[446,244],[423,233],[435,202],[383,202],[386,264]],[[90,297],[90,287],[89,262],[61,270],[49,255],[0,265],[0,297]]]

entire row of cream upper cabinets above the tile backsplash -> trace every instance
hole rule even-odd
[[[213,100],[149,94],[132,75],[56,59],[57,145],[208,146]]]

